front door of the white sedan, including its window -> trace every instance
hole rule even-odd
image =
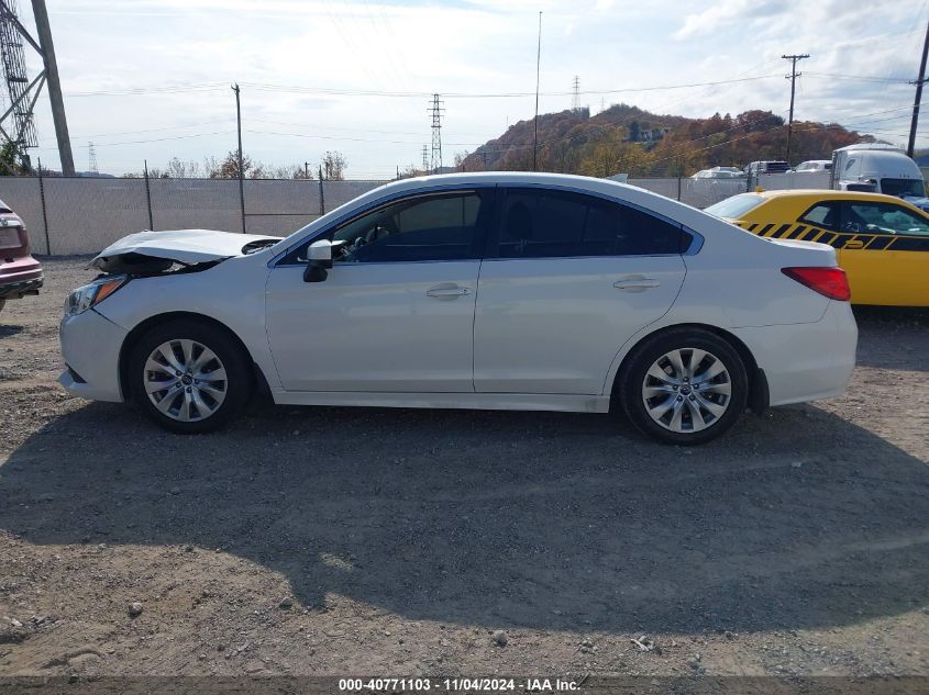
[[[268,343],[288,391],[473,392],[473,326],[493,189],[392,201],[272,270]],[[305,282],[306,247],[333,267]]]

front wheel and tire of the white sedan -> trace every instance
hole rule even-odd
[[[187,435],[213,431],[239,415],[252,394],[254,374],[247,355],[226,330],[180,318],[158,324],[139,339],[126,383],[147,417]]]

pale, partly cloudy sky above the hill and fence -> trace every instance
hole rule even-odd
[[[236,147],[270,165],[386,179],[421,165],[441,94],[443,161],[540,112],[630,103],[660,113],[787,115],[906,143],[929,0],[47,0],[75,165],[202,162]],[[29,0],[19,0],[33,29]],[[41,61],[27,51],[31,75]],[[739,81],[733,81],[739,80]],[[707,85],[708,82],[721,82]],[[690,87],[681,87],[690,86]],[[929,102],[929,89],[924,101]],[[59,167],[47,96],[43,166]],[[918,146],[929,146],[929,104]]]

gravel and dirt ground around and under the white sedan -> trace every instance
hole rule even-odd
[[[82,261],[0,313],[0,674],[929,674],[926,312],[859,312],[847,395],[693,450],[372,408],[177,437],[56,384]]]

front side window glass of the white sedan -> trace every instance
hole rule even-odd
[[[479,258],[478,234],[489,214],[489,192],[417,195],[388,203],[324,235],[334,262],[409,262]],[[319,238],[319,237],[318,237]],[[285,262],[306,262],[309,242]]]

